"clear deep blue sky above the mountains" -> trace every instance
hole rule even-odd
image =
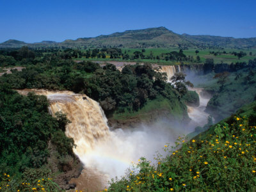
[[[179,34],[256,37],[255,10],[255,0],[0,0],[0,42],[62,42],[160,26]]]

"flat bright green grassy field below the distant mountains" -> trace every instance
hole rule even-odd
[[[127,49],[124,48],[122,49],[123,53],[127,53],[129,54],[130,57],[134,56],[133,52],[135,51],[140,51],[141,52],[142,49]],[[85,51],[85,50],[83,50]],[[168,53],[168,52],[172,52],[172,51],[178,51],[178,48],[152,48],[152,49],[145,49],[145,52],[143,52],[143,54],[147,57],[150,55],[150,52],[152,52],[153,56],[160,56],[161,54],[164,53]],[[207,58],[212,58],[214,60],[214,63],[236,63],[236,62],[248,62],[249,60],[253,60],[254,58],[256,58],[256,49],[252,49],[252,50],[248,50],[248,49],[202,49],[202,50],[198,50],[198,54],[196,54],[196,49],[187,49],[184,50],[184,54],[186,54],[186,56],[193,56],[194,59],[196,59],[196,56],[200,56],[200,61],[198,63],[204,63],[205,60]],[[210,54],[211,51],[214,52],[221,52],[221,54],[218,54],[217,56],[214,56],[214,54]],[[223,51],[226,51],[226,54],[223,54]],[[234,54],[230,54],[230,52],[246,52],[246,56],[242,57],[240,60],[238,59],[237,56],[234,56]],[[250,52],[252,52],[252,56],[250,56]],[[122,58],[119,59],[110,59],[109,55],[107,54],[107,58],[77,58],[75,60],[92,60],[92,61],[133,61],[133,62],[148,62],[148,63],[157,63],[159,65],[180,65],[180,61],[164,61],[164,60],[149,60],[149,59],[145,59],[145,60],[122,60]],[[191,61],[182,61],[182,63],[184,64],[189,64],[191,63]]]

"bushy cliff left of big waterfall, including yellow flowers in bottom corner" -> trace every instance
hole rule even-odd
[[[74,140],[64,133],[67,118],[61,113],[53,118],[45,96],[22,96],[8,84],[0,85],[0,106],[0,187],[32,191],[37,179],[45,178],[42,188],[52,191],[57,185],[50,179],[67,171],[74,158]],[[58,159],[56,169],[48,161],[52,156]]]

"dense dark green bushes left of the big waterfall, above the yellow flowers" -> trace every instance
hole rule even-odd
[[[68,120],[63,114],[53,118],[48,113],[45,96],[25,97],[1,84],[0,106],[0,174],[19,179],[28,168],[41,168],[47,163],[49,140],[61,145],[60,156],[72,154],[74,141],[63,132]]]

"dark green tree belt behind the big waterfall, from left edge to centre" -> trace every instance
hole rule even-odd
[[[117,49],[104,48],[101,51],[114,57],[121,54]],[[28,53],[30,50],[22,47],[17,52]],[[185,86],[180,89],[167,84],[166,76],[156,72],[151,65],[127,65],[120,72],[115,65],[107,64],[101,68],[98,63],[91,61],[77,63],[63,58],[62,53],[44,54],[42,58],[35,59],[27,58],[28,54],[24,54],[24,58],[17,62],[23,63],[26,68],[22,72],[12,70],[12,74],[4,74],[0,82],[8,83],[15,89],[40,88],[85,93],[99,101],[107,113],[116,109],[120,112],[138,111],[148,99],[155,99],[157,95],[180,100],[184,91],[187,92]]]

